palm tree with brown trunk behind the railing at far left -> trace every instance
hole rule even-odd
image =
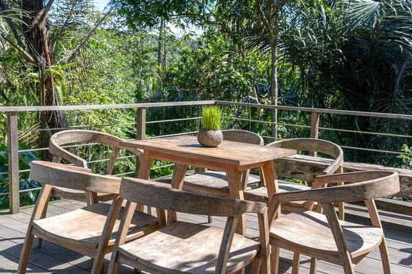
[[[0,10],[8,15],[3,19],[11,30],[12,37],[11,34],[5,34],[5,32],[0,32],[0,36],[19,51],[24,58],[22,59],[23,66],[27,70],[38,74],[36,95],[39,99],[39,105],[59,105],[58,89],[56,88],[54,77],[54,64],[58,63],[59,60],[56,60],[53,51],[58,39],[65,34],[65,27],[69,23],[69,18],[76,16],[80,8],[84,8],[84,5],[89,3],[89,0],[73,0],[70,5],[61,5],[62,7],[69,7],[69,10],[67,10],[67,21],[60,29],[57,26],[54,29],[58,33],[54,41],[51,39],[51,23],[49,21],[49,12],[52,9],[53,3],[54,0],[48,0],[47,2],[43,0],[22,0],[8,1],[7,3],[5,0],[0,0]],[[89,5],[90,7],[92,6]],[[20,19],[16,18],[16,16],[10,14],[10,8],[21,8],[23,16]],[[107,14],[110,12],[111,10]],[[100,18],[88,30],[78,45],[65,56],[65,62],[69,62],[76,56],[106,16]],[[23,60],[25,61],[23,62]],[[42,112],[41,125],[44,129],[50,129],[47,132],[43,132],[41,138],[39,138],[43,143],[43,147],[47,147],[48,138],[46,135],[50,137],[53,133],[52,129],[65,127],[65,116],[60,111]]]

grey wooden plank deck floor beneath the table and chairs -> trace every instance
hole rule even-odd
[[[49,216],[75,210],[84,206],[78,201],[64,200],[49,205]],[[25,238],[27,223],[33,208],[23,208],[20,214],[0,213],[0,273],[16,273],[21,247]],[[367,222],[365,209],[347,206],[347,221]],[[412,217],[380,212],[385,229],[393,273],[412,274]],[[179,214],[179,219],[197,223],[206,223],[205,216]],[[214,218],[211,225],[222,227],[223,219]],[[258,222],[253,215],[247,216],[247,236],[258,237]],[[106,267],[110,254],[106,256]],[[293,254],[281,253],[281,273],[290,273]],[[299,273],[309,273],[309,258],[301,258]],[[43,242],[43,247],[32,247],[27,273],[89,273],[91,259],[79,253],[59,247],[50,242]],[[328,262],[318,263],[318,273],[343,273],[340,266]],[[356,273],[382,273],[378,250],[369,253],[355,268]],[[247,271],[248,272],[248,271]],[[122,266],[119,273],[133,273],[133,269]]]

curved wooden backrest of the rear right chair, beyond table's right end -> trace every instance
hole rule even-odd
[[[314,138],[293,138],[279,140],[276,142],[271,142],[267,146],[280,147],[284,149],[295,149],[297,151],[310,151],[310,152],[320,152],[326,155],[332,156],[335,160],[330,164],[320,175],[335,173],[343,165],[343,150],[339,145],[334,142],[329,142],[327,140],[314,139]],[[283,159],[282,159],[283,160]],[[289,173],[293,173],[293,177],[296,179],[301,179],[302,181],[307,181],[307,174],[300,174],[296,171],[290,171],[288,174],[282,174],[282,169],[277,170],[278,175],[284,177],[290,177]],[[314,174],[312,177],[319,174]]]

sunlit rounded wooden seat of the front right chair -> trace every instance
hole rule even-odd
[[[366,255],[378,247],[382,240],[381,228],[345,221],[339,223],[352,259]],[[304,255],[333,263],[340,262],[332,231],[323,214],[300,210],[283,215],[273,221],[270,238],[271,245],[299,250]]]

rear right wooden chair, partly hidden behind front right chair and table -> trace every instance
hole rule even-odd
[[[313,138],[294,138],[279,140],[277,142],[272,142],[267,146],[280,147],[284,149],[296,149],[297,151],[310,151],[312,155],[316,155],[316,152],[323,153],[325,155],[330,155],[335,160],[321,173],[314,173],[310,169],[294,169],[293,159],[299,158],[301,155],[293,155],[286,158],[281,158],[276,160],[276,173],[278,176],[299,179],[306,182],[313,182],[314,177],[317,175],[327,175],[332,173],[343,173],[343,151],[339,145],[329,142],[327,140],[319,140]],[[315,160],[313,156],[306,156],[310,160]],[[295,190],[308,190],[310,186],[303,184],[297,184],[293,182],[287,182],[285,180],[278,181],[279,192],[289,192]],[[246,190],[244,192],[244,199],[249,201],[265,201],[268,203],[268,194],[266,187],[255,188],[251,190]],[[282,210],[287,212],[295,212],[297,210],[302,210],[304,208],[304,201],[293,201],[290,203],[283,203]],[[316,204],[314,209],[317,209]],[[317,209],[317,210],[320,210]],[[339,217],[344,219],[344,204],[339,203]]]

